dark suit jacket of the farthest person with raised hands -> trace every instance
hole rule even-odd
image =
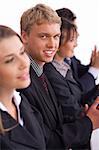
[[[65,61],[67,61],[65,59]],[[95,84],[95,79],[88,72],[89,65],[82,65],[81,62],[74,56],[71,58],[71,68],[76,81],[79,83],[83,91],[82,104],[88,103],[89,106],[99,96],[99,85]]]

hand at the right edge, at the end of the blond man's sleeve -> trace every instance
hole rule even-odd
[[[97,109],[98,104],[99,97],[96,98],[95,102],[90,106],[86,114],[92,121],[93,129],[99,128],[99,109]]]

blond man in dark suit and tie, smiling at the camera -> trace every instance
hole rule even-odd
[[[91,106],[87,116],[73,124],[66,124],[55,93],[43,73],[44,64],[52,61],[59,46],[60,17],[50,7],[38,4],[23,13],[20,24],[25,50],[31,60],[32,81],[21,92],[42,114],[47,149],[62,150],[87,143],[92,129],[99,126],[99,111],[96,110],[99,99]]]

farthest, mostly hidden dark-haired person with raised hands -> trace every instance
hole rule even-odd
[[[77,26],[77,17],[70,9],[60,8],[57,9],[56,12],[61,18],[67,19],[68,21],[74,23]],[[92,90],[94,93],[94,90],[96,90],[98,87],[96,86],[96,79],[99,74],[99,53],[96,52],[96,47],[92,52],[91,62],[89,65],[81,64],[80,60],[78,60],[74,56],[73,51],[71,51],[71,55],[65,58],[65,61],[68,62],[68,59],[71,60],[71,68],[73,71],[74,78],[77,82],[79,82],[84,93],[88,93],[90,90]],[[90,94],[85,99],[87,99],[89,96]]]

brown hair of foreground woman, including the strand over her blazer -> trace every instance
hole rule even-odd
[[[4,25],[0,25],[0,42],[6,38],[12,37],[12,36],[17,36],[20,41],[22,42],[20,36],[10,27],[4,26]],[[4,133],[5,131],[9,131],[12,128],[15,128],[16,125],[13,125],[13,127],[9,127],[7,129],[4,129],[3,127],[3,122],[2,122],[2,116],[1,116],[1,112],[0,112],[0,133]]]

